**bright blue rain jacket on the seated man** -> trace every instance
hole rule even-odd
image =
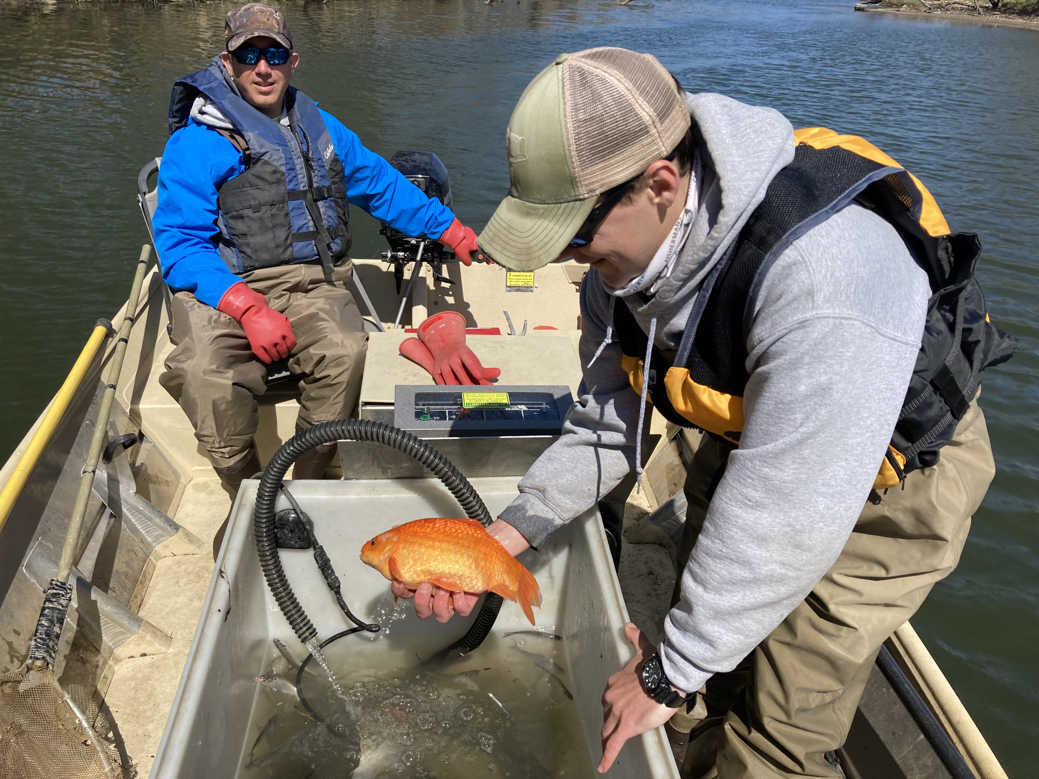
[[[346,174],[347,199],[410,236],[438,238],[454,220],[439,200],[400,174],[327,111],[321,111]],[[273,119],[271,119],[273,122]],[[217,190],[245,169],[241,153],[214,128],[195,119],[166,142],[159,168],[158,207],[152,223],[162,278],[214,308],[242,280],[220,258]]]

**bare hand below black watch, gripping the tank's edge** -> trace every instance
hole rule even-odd
[[[617,759],[629,738],[660,727],[677,710],[658,703],[642,689],[639,664],[657,651],[638,627],[629,622],[624,635],[635,647],[635,656],[606,682],[603,693],[603,759],[598,773],[605,774]]]

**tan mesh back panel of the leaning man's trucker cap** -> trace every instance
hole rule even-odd
[[[581,196],[598,194],[666,157],[689,128],[674,80],[657,59],[589,49],[562,66],[570,162]]]

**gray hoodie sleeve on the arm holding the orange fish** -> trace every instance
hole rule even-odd
[[[622,304],[622,303],[618,303]],[[609,299],[589,270],[581,285],[580,358],[584,378],[563,422],[563,434],[531,465],[520,496],[500,515],[532,546],[591,508],[635,467],[639,396],[620,368],[620,342],[606,346]],[[649,429],[648,413],[644,425]]]

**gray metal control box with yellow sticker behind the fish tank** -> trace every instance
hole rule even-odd
[[[393,407],[363,407],[362,419],[423,438],[468,478],[524,476],[559,437],[574,402],[567,386],[399,384],[395,394]],[[341,440],[339,457],[344,479],[432,476],[402,452],[372,441]]]

